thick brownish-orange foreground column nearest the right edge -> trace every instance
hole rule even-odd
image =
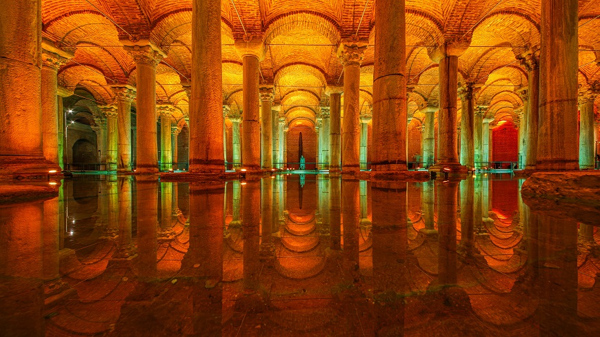
[[[577,0],[541,1],[536,170],[578,170]]]

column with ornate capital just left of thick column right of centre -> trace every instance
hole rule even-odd
[[[343,127],[341,128],[341,166],[345,172],[360,170],[360,85],[361,61],[366,43],[343,41],[337,54],[343,65]]]

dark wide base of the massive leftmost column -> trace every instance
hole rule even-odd
[[[43,156],[0,156],[0,180],[34,178],[59,172],[61,167]]]

